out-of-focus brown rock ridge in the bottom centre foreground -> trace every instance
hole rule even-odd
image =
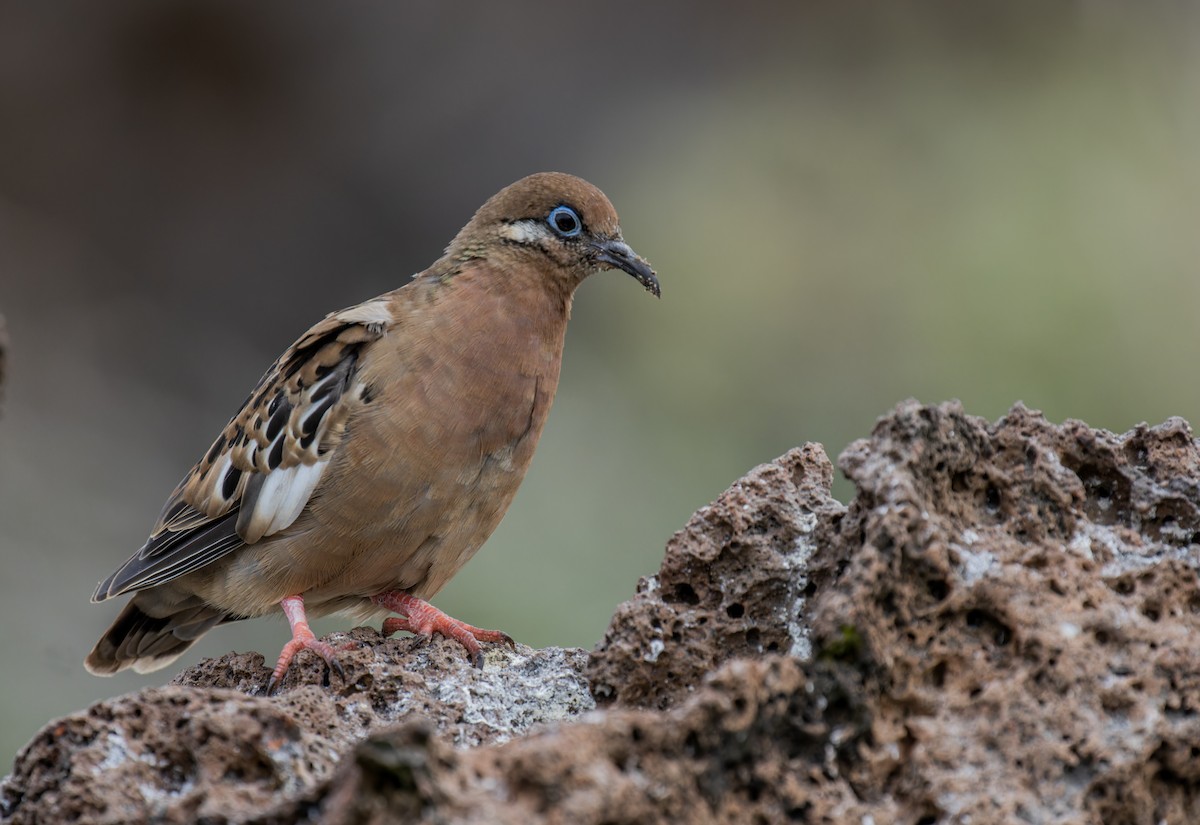
[[[770,654],[722,666],[668,711],[588,713],[499,747],[454,752],[427,727],[394,728],[256,821],[860,823],[839,770],[863,711],[852,681]]]

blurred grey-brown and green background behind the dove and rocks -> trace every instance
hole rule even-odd
[[[83,670],[95,583],[308,324],[532,171],[604,188],[664,297],[581,290],[529,477],[436,600],[473,624],[593,645],[695,508],[910,396],[1196,415],[1196,8],[0,4],[0,757],[170,678]]]

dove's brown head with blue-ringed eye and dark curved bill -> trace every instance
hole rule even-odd
[[[569,291],[596,270],[624,270],[660,295],[654,270],[625,243],[604,192],[557,171],[522,177],[492,195],[446,252],[460,259],[528,261]]]

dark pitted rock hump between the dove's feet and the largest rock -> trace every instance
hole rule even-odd
[[[808,658],[809,560],[846,512],[832,483],[824,450],[806,444],[697,510],[592,652],[596,701],[661,710],[728,660]]]

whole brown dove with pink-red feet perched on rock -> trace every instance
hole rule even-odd
[[[266,372],[94,601],[133,600],[88,656],[95,674],[167,666],[215,625],[283,609],[272,676],[308,649],[306,613],[442,632],[479,661],[503,633],[432,597],[492,534],[558,386],[576,287],[622,269],[659,294],[590,183],[532,175],[492,197],[400,289],[335,312]]]

